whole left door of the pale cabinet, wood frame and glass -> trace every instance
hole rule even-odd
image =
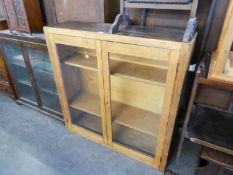
[[[66,122],[73,131],[96,141],[106,140],[103,117],[103,80],[98,42],[95,40],[53,36],[53,70],[63,103]],[[55,67],[57,65],[57,67]],[[60,71],[59,71],[60,70]],[[59,71],[59,72],[58,72]],[[65,97],[65,98],[63,98]]]

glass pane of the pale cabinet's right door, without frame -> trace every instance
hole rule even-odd
[[[113,142],[155,156],[168,61],[109,53]]]

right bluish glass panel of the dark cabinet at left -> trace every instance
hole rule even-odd
[[[47,50],[26,48],[42,107],[61,113],[60,102]]]

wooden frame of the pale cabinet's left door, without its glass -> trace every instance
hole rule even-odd
[[[103,89],[103,77],[102,77],[102,60],[101,60],[101,48],[100,43],[93,39],[86,39],[86,38],[73,38],[69,36],[64,35],[57,35],[57,34],[49,34],[47,30],[45,30],[46,33],[46,41],[47,46],[49,50],[50,55],[50,61],[52,63],[52,68],[54,72],[55,77],[55,83],[58,89],[59,99],[61,102],[61,108],[64,115],[64,120],[66,127],[72,131],[72,132],[78,132],[79,134],[90,138],[91,140],[94,140],[100,144],[107,144],[107,132],[106,132],[106,121],[105,121],[105,107],[104,105],[104,93],[102,91]],[[61,63],[59,59],[59,55],[57,53],[56,44],[64,44],[69,46],[75,46],[75,47],[82,47],[82,48],[89,48],[89,49],[95,49],[97,53],[97,59],[98,59],[98,79],[99,79],[99,93],[100,93],[100,104],[101,104],[101,114],[102,114],[102,131],[103,136],[100,136],[98,134],[95,134],[91,131],[88,131],[82,127],[73,125],[71,122],[71,114],[69,110],[69,104],[68,104],[68,98],[65,91],[62,71],[61,71]]]

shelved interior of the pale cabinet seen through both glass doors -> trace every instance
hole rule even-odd
[[[96,50],[57,44],[74,125],[103,134]],[[155,156],[169,62],[108,53],[113,142]]]

